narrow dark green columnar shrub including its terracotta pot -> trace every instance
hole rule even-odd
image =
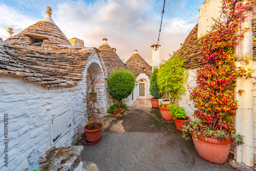
[[[150,77],[150,94],[154,97],[151,98],[152,108],[159,108],[158,98],[162,97],[158,90],[157,72],[158,68],[154,67]]]

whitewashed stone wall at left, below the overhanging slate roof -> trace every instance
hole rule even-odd
[[[19,76],[0,74],[0,126],[4,127],[4,114],[8,114],[8,168],[0,170],[23,170],[27,167],[27,156],[32,148],[41,154],[51,147],[51,118],[68,110],[72,112],[72,128],[59,138],[53,146],[70,146],[83,133],[86,124],[82,111],[80,83],[72,88],[42,88],[40,84],[23,80]],[[2,142],[3,131],[0,132]],[[4,154],[0,145],[0,156]],[[1,157],[1,163],[3,158]]]

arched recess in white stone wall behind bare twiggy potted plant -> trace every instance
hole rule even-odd
[[[86,76],[86,103],[87,113],[104,116],[106,112],[106,82],[102,69],[98,63],[92,62],[87,69]]]

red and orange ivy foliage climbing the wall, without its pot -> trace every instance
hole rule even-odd
[[[234,100],[234,87],[238,77],[252,77],[252,70],[237,67],[234,46],[243,39],[245,28],[241,33],[241,23],[247,17],[244,14],[252,8],[256,0],[243,4],[243,1],[223,0],[221,17],[215,20],[211,31],[201,39],[201,59],[203,65],[197,70],[196,87],[190,90],[190,100],[197,110],[194,117],[208,125],[210,129],[233,130],[232,117],[238,109]],[[240,56],[240,62],[248,59]],[[239,92],[240,94],[242,92]]]

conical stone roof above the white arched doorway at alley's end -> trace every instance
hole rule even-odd
[[[152,67],[137,53],[135,53],[125,62],[126,67],[132,71],[135,76],[139,76],[141,73],[151,76]]]

